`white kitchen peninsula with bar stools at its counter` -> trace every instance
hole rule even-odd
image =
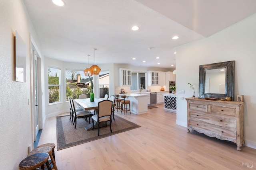
[[[119,96],[125,95],[125,100],[130,100],[131,104],[131,113],[140,115],[147,113],[148,111],[148,94],[139,94],[139,93],[125,93],[118,94]]]

